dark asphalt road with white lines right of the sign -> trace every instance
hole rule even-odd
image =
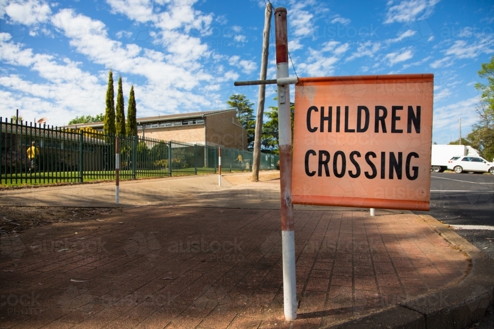
[[[466,225],[456,233],[494,259],[493,200],[494,175],[432,173],[431,210],[414,213],[429,214],[453,227]]]

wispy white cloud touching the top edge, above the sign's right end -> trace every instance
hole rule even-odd
[[[399,4],[391,5],[389,1],[384,24],[394,22],[410,23],[415,20],[426,19],[434,12],[434,6],[439,0],[402,0]],[[419,17],[418,17],[419,16]]]

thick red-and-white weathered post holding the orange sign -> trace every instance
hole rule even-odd
[[[287,9],[275,9],[276,76],[288,77]],[[295,232],[291,203],[291,116],[289,85],[278,85],[278,131],[280,145],[281,228],[283,250],[283,304],[288,321],[297,318],[295,287]]]

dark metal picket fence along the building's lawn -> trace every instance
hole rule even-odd
[[[115,179],[115,135],[10,122],[0,117],[1,184]],[[251,171],[251,151],[221,149],[223,172]],[[260,168],[277,168],[279,156],[261,153]],[[218,148],[140,136],[120,137],[120,178],[214,174]]]

